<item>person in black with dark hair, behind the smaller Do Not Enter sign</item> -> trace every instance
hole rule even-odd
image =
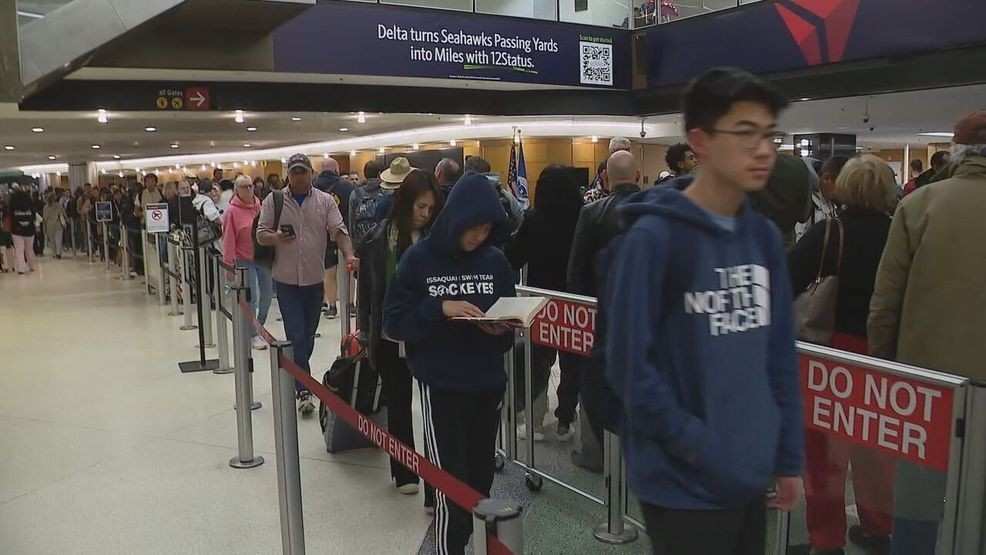
[[[538,177],[534,190],[534,208],[524,216],[524,223],[517,235],[507,244],[506,255],[511,266],[520,270],[527,266],[527,284],[541,289],[565,291],[568,256],[572,250],[575,224],[582,209],[582,196],[578,185],[572,178],[570,168],[551,165]],[[534,439],[544,439],[544,415],[547,401],[544,396],[548,387],[551,367],[555,364],[558,352],[555,349],[534,345],[531,353],[531,375],[534,391]],[[557,435],[560,440],[570,439],[575,407],[579,402],[578,360],[562,354],[561,382],[558,385]],[[523,380],[519,380],[523,383]],[[521,399],[524,398],[522,395]]]

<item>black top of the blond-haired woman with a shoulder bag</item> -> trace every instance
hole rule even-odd
[[[891,219],[886,214],[848,208],[841,212],[846,233],[839,272],[839,298],[835,330],[866,337],[866,320],[876,271],[890,233]],[[836,273],[839,259],[839,228],[832,226],[829,246],[822,267],[822,277]],[[818,264],[825,242],[825,222],[813,225],[788,254],[792,291],[797,295],[808,288],[818,275]]]

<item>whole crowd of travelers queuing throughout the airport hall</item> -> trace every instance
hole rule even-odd
[[[551,165],[526,210],[478,156],[422,168],[371,161],[356,183],[334,160],[316,175],[297,154],[283,181],[217,170],[163,187],[148,174],[129,188],[14,191],[0,198],[4,268],[34,269],[36,235],[60,256],[66,226],[93,221],[97,201],[139,229],[147,204],[167,203],[178,222],[179,198],[193,196],[225,262],[248,269],[261,323],[276,294],[295,362],[311,371],[323,315],[355,317],[390,432],[414,447],[417,380],[428,458],[483,495],[514,336],[460,319],[516,296],[526,268],[528,285],[596,297],[599,315],[591,357],[534,348],[535,406],[519,408],[534,411],[535,427],[524,433],[544,439],[557,360],[554,434],[572,436],[581,406],[583,434],[622,436],[655,554],[761,554],[767,509],[791,510],[802,494],[812,553],[845,553],[847,541],[868,553],[931,553],[941,507],[915,499],[940,499],[942,473],[805,430],[793,299],[836,276],[827,346],[982,378],[986,297],[972,276],[986,270],[986,113],[958,122],[951,152],[927,171],[913,165],[898,187],[876,156],[779,154],[787,105],[751,74],[710,70],[684,93],[687,141],[668,149],[654,184],[641,183],[632,143],[617,137],[586,190]],[[355,306],[338,306],[340,265],[357,278]],[[314,411],[300,383],[297,402]],[[398,461],[390,474],[398,492],[419,491]],[[471,515],[427,486],[425,506],[439,553],[464,553]]]

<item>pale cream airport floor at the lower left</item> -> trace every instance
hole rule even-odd
[[[234,470],[233,377],[180,374],[198,338],[167,312],[82,258],[0,275],[0,553],[280,552],[267,354],[254,412],[267,462]],[[338,329],[323,320],[314,367]],[[308,552],[416,553],[431,519],[386,459],[326,453],[313,420],[300,435]]]

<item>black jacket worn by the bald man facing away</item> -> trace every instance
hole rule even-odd
[[[582,207],[568,260],[569,292],[596,296],[597,257],[621,231],[616,209],[631,195],[639,192],[640,187],[635,183],[620,183],[613,187],[613,192],[608,197]]]

